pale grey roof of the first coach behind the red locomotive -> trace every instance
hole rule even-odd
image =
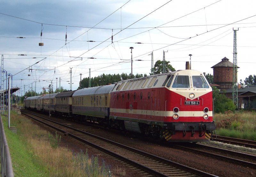
[[[115,87],[115,84],[104,85],[99,87],[83,88],[80,90],[76,90],[73,96],[110,93],[114,87]]]

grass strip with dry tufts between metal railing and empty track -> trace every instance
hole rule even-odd
[[[11,112],[11,126],[17,128],[17,135],[7,128],[7,118],[2,116],[7,142],[10,148],[15,176],[68,176],[105,177],[125,175],[125,171],[115,168],[112,172],[104,161],[91,157],[82,150],[72,152],[59,147],[61,137],[33,124],[30,119]],[[51,144],[51,142],[53,142]],[[101,164],[101,165],[99,165]],[[116,171],[116,169],[118,171]]]

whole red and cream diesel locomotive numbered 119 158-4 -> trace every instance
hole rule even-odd
[[[202,142],[215,130],[212,88],[195,70],[120,81],[110,100],[110,123],[129,131],[168,142]]]

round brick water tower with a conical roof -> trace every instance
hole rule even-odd
[[[213,68],[213,82],[220,85],[220,89],[228,89],[233,86],[233,63],[224,57],[221,62],[212,66]],[[239,68],[237,66],[237,68]]]

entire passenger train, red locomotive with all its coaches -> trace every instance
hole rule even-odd
[[[212,88],[203,73],[190,69],[26,97],[23,104],[167,142],[205,142],[215,130]]]

